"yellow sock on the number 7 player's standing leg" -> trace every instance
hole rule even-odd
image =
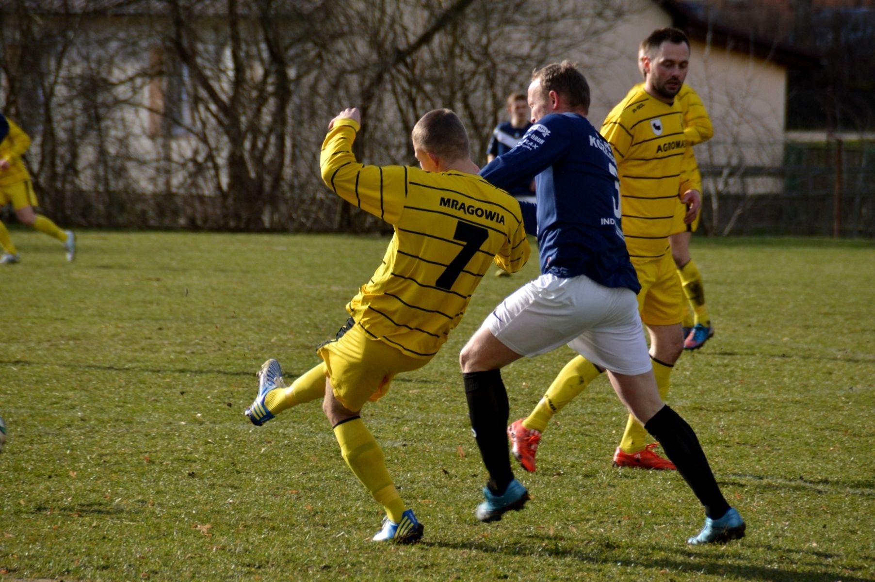
[[[347,420],[334,427],[334,436],[340,452],[362,484],[377,503],[386,508],[386,515],[395,523],[401,522],[404,503],[388,476],[386,459],[374,435],[367,430],[361,418]]]

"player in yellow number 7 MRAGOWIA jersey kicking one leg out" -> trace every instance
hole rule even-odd
[[[324,396],[346,464],[386,510],[374,541],[409,543],[422,537],[423,525],[395,490],[360,410],[384,396],[396,374],[437,354],[493,263],[520,270],[529,247],[519,202],[477,175],[465,126],[452,111],[436,109],[416,123],[412,141],[422,169],[361,165],[353,155],[359,127],[358,109],[332,120],[322,178],[344,200],[393,225],[395,235],[374,276],[346,305],[346,326],[318,348],[323,362],[286,388],[279,364],[266,361],[246,415],[261,425]]]

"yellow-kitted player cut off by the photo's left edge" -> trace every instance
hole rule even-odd
[[[37,194],[33,192],[31,175],[21,158],[31,147],[31,138],[10,119],[7,122],[9,135],[0,142],[0,207],[11,202],[19,222],[58,239],[66,249],[66,260],[73,261],[76,256],[76,237],[73,232],[61,230],[54,222],[33,210],[38,207]],[[3,222],[0,222],[0,247],[4,251],[3,256],[0,256],[0,263],[21,261],[18,249],[12,244],[9,230]]]

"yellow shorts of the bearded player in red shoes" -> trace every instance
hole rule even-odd
[[[648,326],[674,326],[683,322],[687,299],[671,253],[653,261],[632,261],[638,274],[638,310]]]

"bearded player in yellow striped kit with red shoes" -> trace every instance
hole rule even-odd
[[[690,61],[690,42],[674,28],[659,29],[641,43],[645,82],[613,108],[601,133],[610,142],[620,174],[622,228],[638,274],[638,305],[650,334],[650,356],[664,399],[671,368],[683,352],[683,291],[670,252],[678,203],[687,207],[684,220],[697,215],[699,182],[685,163],[687,149],[683,111],[676,96]],[[507,427],[512,452],[527,471],[535,471],[535,452],[550,418],[604,370],[577,356],[556,376],[547,393],[526,418]],[[629,416],[617,466],[675,469],[654,452],[644,427]]]

